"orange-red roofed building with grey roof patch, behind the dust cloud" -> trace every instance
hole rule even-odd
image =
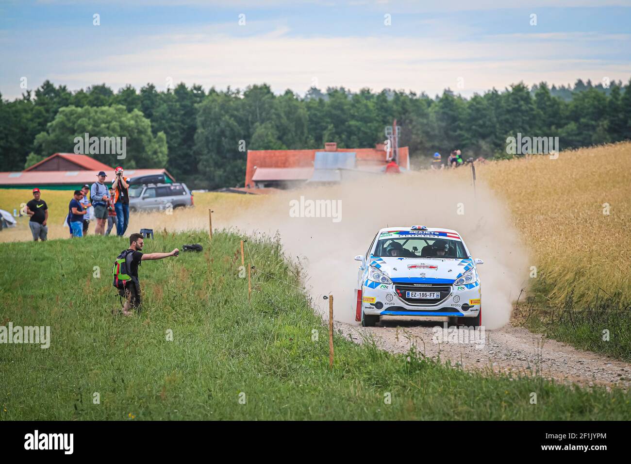
[[[410,169],[408,147],[399,147],[399,167]],[[298,187],[306,182],[340,182],[360,174],[383,174],[389,153],[375,148],[338,148],[327,142],[324,150],[248,150],[245,187]]]

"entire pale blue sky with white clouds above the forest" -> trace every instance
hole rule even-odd
[[[631,77],[631,0],[444,3],[4,1],[0,92],[19,97],[27,78],[28,88],[49,79],[73,90],[266,82],[278,93],[449,87],[469,96],[518,81]]]

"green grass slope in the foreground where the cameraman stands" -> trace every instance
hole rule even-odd
[[[144,261],[144,310],[131,318],[110,314],[120,305],[110,278],[124,247],[119,239],[3,244],[2,324],[50,326],[51,342],[48,349],[0,345],[0,418],[610,420],[631,414],[631,393],[621,390],[473,374],[338,335],[331,370],[327,326],[300,290],[255,271],[248,304],[239,240],[217,233],[209,246],[203,232],[147,239],[146,253],[192,242],[205,249]],[[278,244],[248,243],[257,268],[298,284],[298,270]]]

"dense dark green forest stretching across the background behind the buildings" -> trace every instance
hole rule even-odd
[[[73,152],[74,138],[89,133],[126,137],[126,159],[91,155],[105,164],[166,167],[193,188],[243,186],[246,150],[313,149],[326,141],[370,147],[384,141],[393,119],[415,167],[427,167],[434,152],[446,158],[456,148],[464,158],[509,158],[506,139],[517,133],[558,137],[561,150],[630,140],[630,85],[517,83],[470,98],[449,89],[431,98],[344,87],[274,94],[266,84],[205,91],[184,83],[158,90],[149,83],[117,92],[102,84],[71,92],[45,81],[12,101],[0,94],[0,170]]]

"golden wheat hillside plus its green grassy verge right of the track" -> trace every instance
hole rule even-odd
[[[631,143],[623,142],[478,167],[509,203],[534,257],[516,321],[624,360],[631,359],[630,165]]]

